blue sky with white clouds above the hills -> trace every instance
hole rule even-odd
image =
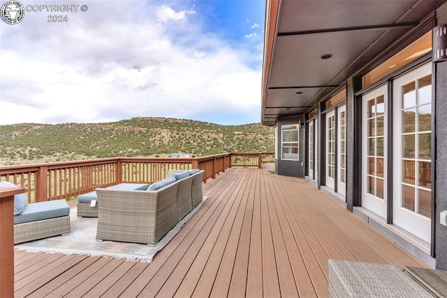
[[[20,3],[21,22],[0,20],[0,125],[260,122],[263,0]]]

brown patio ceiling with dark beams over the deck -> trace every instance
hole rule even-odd
[[[267,0],[261,122],[306,113],[445,2]]]

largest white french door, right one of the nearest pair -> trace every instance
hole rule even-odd
[[[432,64],[393,83],[393,224],[430,243]]]

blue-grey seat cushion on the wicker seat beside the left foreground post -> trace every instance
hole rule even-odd
[[[48,218],[59,218],[70,214],[70,206],[65,199],[38,201],[27,204],[22,214],[14,217],[14,225]]]

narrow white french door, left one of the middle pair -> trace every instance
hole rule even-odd
[[[335,185],[335,111],[326,114],[326,186]]]

